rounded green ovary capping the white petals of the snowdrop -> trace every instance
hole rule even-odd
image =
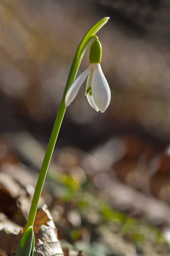
[[[102,58],[102,46],[98,40],[95,40],[90,46],[89,62],[100,63]]]

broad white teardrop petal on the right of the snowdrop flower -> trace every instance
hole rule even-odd
[[[103,113],[109,106],[111,100],[111,92],[109,84],[103,74],[99,63],[95,65],[95,71],[91,83],[91,91],[97,108]]]

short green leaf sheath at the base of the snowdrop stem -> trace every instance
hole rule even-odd
[[[15,256],[33,256],[34,253],[34,231],[30,226],[21,236]]]

